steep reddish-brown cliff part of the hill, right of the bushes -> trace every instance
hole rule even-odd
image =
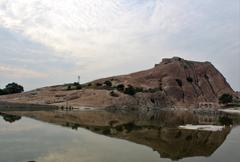
[[[216,107],[223,93],[234,95],[226,79],[210,62],[188,61],[179,57],[163,59],[146,71],[95,82],[109,79],[150,91],[135,95],[139,105],[149,107]]]

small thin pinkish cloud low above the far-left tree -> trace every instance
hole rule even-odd
[[[0,65],[0,75],[10,76],[13,78],[44,78],[48,76],[42,72],[6,65]]]

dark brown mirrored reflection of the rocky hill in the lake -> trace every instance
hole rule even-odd
[[[221,131],[178,129],[183,124],[230,125],[231,116],[209,112],[149,111],[149,112],[15,112],[41,121],[79,127],[110,137],[126,139],[151,147],[162,158],[178,160],[194,156],[210,156],[224,142],[231,127]],[[14,115],[13,115],[14,116]]]

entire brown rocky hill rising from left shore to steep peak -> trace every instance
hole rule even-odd
[[[131,95],[126,93],[129,87],[131,92],[134,91]],[[210,62],[188,61],[179,57],[163,59],[149,70],[95,80],[79,90],[70,89],[69,85],[45,87],[1,96],[0,101],[100,108],[191,108],[217,107],[219,96],[235,94]]]

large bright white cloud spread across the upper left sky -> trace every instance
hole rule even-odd
[[[149,33],[179,30],[178,5],[156,0],[3,0],[0,24],[62,56],[94,58],[113,55],[126,42],[138,44]]]

